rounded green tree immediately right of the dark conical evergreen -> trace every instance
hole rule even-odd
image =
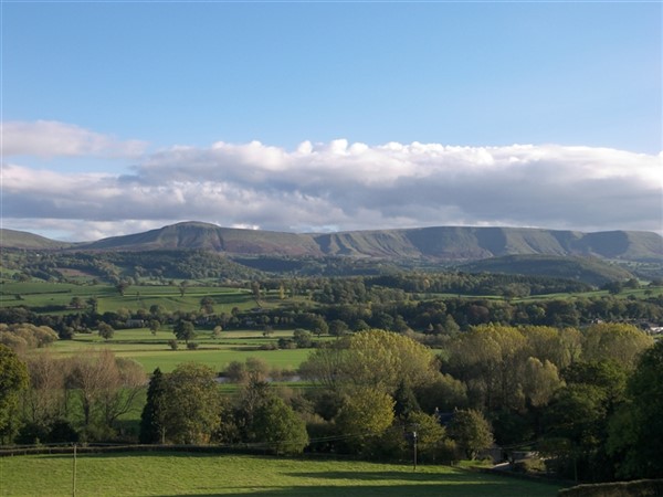
[[[166,380],[166,438],[206,444],[221,423],[221,398],[214,371],[203,364],[179,364]]]

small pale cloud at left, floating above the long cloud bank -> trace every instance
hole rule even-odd
[[[145,148],[146,144],[143,141],[119,141],[110,136],[55,120],[2,123],[4,157],[133,157],[143,154]]]

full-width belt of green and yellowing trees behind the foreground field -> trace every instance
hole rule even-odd
[[[312,350],[299,374],[316,387],[267,381],[260,361],[234,364],[239,388],[185,363],[149,380],[139,433],[119,422],[146,378],[108,351],[21,358],[0,346],[3,443],[141,441],[231,444],[277,454],[306,451],[409,457],[477,457],[496,442],[524,447],[547,470],[582,480],[663,474],[663,341],[638,328],[481,325],[433,350],[369,329]]]

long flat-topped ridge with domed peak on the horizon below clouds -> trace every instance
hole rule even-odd
[[[4,230],[8,231],[8,230]],[[19,232],[14,232],[19,233]],[[25,233],[25,240],[42,239]],[[30,236],[34,239],[30,239]],[[29,246],[7,236],[6,247],[60,248],[65,244],[42,239]],[[53,245],[44,245],[50,242]],[[436,226],[338,233],[282,233],[239,230],[185,222],[158,230],[114,236],[75,245],[83,251],[207,250],[228,255],[379,257],[471,262],[507,255],[598,257],[631,262],[663,261],[663,239],[656,233],[611,231],[581,233],[526,228]]]

